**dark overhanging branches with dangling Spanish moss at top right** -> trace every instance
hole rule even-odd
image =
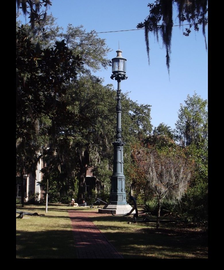
[[[150,8],[150,11],[148,17],[144,22],[140,22],[137,25],[138,29],[145,29],[148,62],[150,50],[148,33],[154,33],[154,35],[157,36],[158,41],[158,33],[160,32],[163,44],[166,47],[166,65],[169,72],[174,8],[177,9],[179,27],[181,27],[181,24],[185,21],[189,24],[189,27],[185,28],[186,32],[183,34],[185,36],[189,36],[192,26],[195,31],[198,31],[199,26],[202,26],[202,33],[204,35],[206,45],[205,26],[208,23],[208,17],[206,16],[208,12],[207,5],[208,0],[156,0],[154,3],[149,3],[148,7]]]

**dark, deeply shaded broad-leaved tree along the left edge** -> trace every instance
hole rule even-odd
[[[64,41],[54,47],[40,49],[32,43],[26,29],[16,32],[16,150],[17,172],[35,175],[43,145],[39,134],[41,115],[59,105],[56,97],[65,91],[64,83],[75,79],[81,59],[74,56]]]

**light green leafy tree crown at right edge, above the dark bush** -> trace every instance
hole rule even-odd
[[[192,97],[188,95],[175,125],[186,157],[194,163],[192,184],[208,182],[208,101],[196,93]]]

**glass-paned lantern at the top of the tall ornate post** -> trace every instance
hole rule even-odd
[[[117,50],[117,57],[112,59],[112,75],[111,79],[115,78],[115,80],[124,80],[128,77],[125,75],[126,73],[126,61],[127,59],[123,58],[121,50]]]

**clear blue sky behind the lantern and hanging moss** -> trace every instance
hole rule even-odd
[[[118,31],[137,29],[149,14],[149,0],[52,0],[48,14],[57,18],[56,22],[64,30],[67,24],[83,25],[86,32]],[[27,19],[28,20],[28,19]],[[174,21],[174,25],[179,21]],[[206,27],[206,38],[208,43]],[[150,34],[150,65],[148,65],[144,30],[122,31],[98,34],[104,38],[111,52],[107,57],[116,57],[119,47],[122,56],[127,59],[128,79],[121,82],[122,92],[130,92],[129,97],[138,104],[151,105],[151,123],[153,127],[164,123],[175,128],[180,103],[194,92],[208,99],[208,52],[205,49],[202,30],[190,36],[183,35],[183,29],[173,27],[171,42],[170,77],[166,67],[166,51],[161,40],[159,44]],[[111,67],[96,75],[104,78],[103,84],[117,82],[111,80]]]

